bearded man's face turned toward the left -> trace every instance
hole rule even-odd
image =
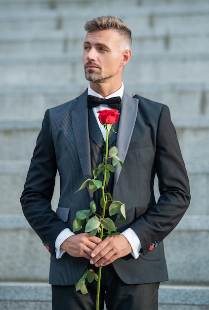
[[[104,83],[121,78],[124,67],[124,52],[120,51],[122,40],[114,29],[87,32],[83,52],[86,80]]]

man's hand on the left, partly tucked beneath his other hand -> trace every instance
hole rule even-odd
[[[98,237],[90,237],[89,233],[81,233],[68,237],[60,246],[73,257],[91,259],[92,250],[101,242]]]

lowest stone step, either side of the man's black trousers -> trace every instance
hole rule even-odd
[[[160,285],[159,310],[208,310],[208,307],[208,286]],[[1,282],[0,309],[51,310],[51,287],[47,283]]]

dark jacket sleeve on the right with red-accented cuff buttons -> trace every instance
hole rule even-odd
[[[166,105],[159,118],[154,164],[160,198],[130,225],[141,241],[143,255],[174,229],[190,202],[189,180]]]

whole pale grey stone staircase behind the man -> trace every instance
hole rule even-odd
[[[83,25],[105,14],[130,26],[123,81],[169,106],[190,179],[191,205],[165,239],[169,282],[159,310],[209,309],[209,2],[157,2],[0,0],[0,309],[51,309],[49,255],[19,198],[44,111],[87,87]]]

